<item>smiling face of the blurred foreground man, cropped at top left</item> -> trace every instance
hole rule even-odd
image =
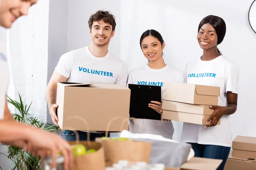
[[[17,18],[27,15],[37,0],[0,0],[0,26],[11,28]]]

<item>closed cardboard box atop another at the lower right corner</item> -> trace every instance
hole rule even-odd
[[[236,136],[232,148],[234,157],[256,159],[256,137]]]

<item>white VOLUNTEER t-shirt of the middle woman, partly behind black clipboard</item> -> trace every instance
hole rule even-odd
[[[156,85],[163,87],[164,82],[184,82],[183,72],[169,65],[162,69],[152,69],[148,65],[130,71],[128,84]],[[162,88],[163,94],[163,88]],[[137,119],[130,120],[132,133],[151,133],[172,139],[174,128],[171,121]]]

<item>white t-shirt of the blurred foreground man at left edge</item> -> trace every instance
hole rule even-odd
[[[9,68],[7,65],[6,52],[0,43],[0,120],[3,119],[6,102],[6,92],[9,84]]]

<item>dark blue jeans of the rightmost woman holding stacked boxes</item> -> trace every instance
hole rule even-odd
[[[227,161],[227,157],[230,153],[230,147],[211,145],[211,144],[197,144],[189,143],[192,145],[195,151],[196,157],[211,158],[211,159],[222,159],[221,165],[217,170],[224,170],[224,166]]]

